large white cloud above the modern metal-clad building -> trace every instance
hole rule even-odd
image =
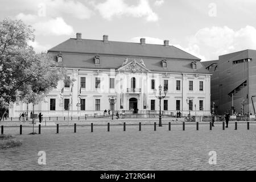
[[[243,49],[256,49],[256,29],[252,26],[237,31],[227,26],[202,28],[189,39],[189,47],[199,47],[197,53],[207,55],[206,60]]]

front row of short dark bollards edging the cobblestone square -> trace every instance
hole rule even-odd
[[[212,122],[209,122],[210,130],[212,130]],[[182,130],[185,131],[185,122],[182,123]],[[38,126],[38,134],[41,134],[41,125]],[[90,124],[90,131],[93,132],[93,123]],[[168,130],[171,131],[171,122],[168,122]],[[199,130],[199,122],[196,122],[196,130]],[[225,122],[222,122],[222,130],[225,130]],[[237,122],[235,122],[235,130],[237,130]],[[250,122],[247,122],[247,130],[250,130]],[[110,131],[110,123],[108,123],[108,131]],[[123,131],[126,131],[126,123],[123,123]],[[141,131],[141,122],[139,122],[139,131]],[[154,122],[154,131],[156,131],[156,122]],[[59,124],[57,124],[56,134],[59,133]],[[76,133],[76,123],[74,124],[74,133]],[[1,126],[1,134],[3,135],[3,126]],[[22,135],[22,125],[19,126],[19,134]]]

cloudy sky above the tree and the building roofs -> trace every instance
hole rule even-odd
[[[256,49],[255,0],[0,0],[0,19],[35,29],[36,52],[81,32],[83,39],[163,44],[202,61]]]

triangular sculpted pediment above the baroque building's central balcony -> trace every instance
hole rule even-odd
[[[118,71],[131,71],[131,72],[148,72],[149,69],[146,68],[146,65],[144,64],[144,61],[141,59],[138,63],[137,60],[128,61],[128,59],[125,59],[122,66],[119,67]]]

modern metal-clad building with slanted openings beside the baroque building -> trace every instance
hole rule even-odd
[[[226,110],[255,114],[256,50],[233,52],[202,63],[213,74],[211,106],[217,114]]]

